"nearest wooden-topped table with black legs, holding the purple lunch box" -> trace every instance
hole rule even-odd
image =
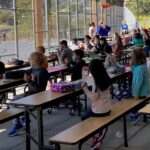
[[[129,71],[130,72],[130,71]],[[117,80],[119,78],[122,78],[126,75],[127,72],[123,74],[117,74],[117,75],[110,75],[112,80]],[[91,77],[88,77],[88,87],[91,87],[92,79]],[[25,110],[25,118],[26,118],[26,149],[30,150],[30,140],[34,139],[30,134],[30,115],[33,116],[33,113],[30,112],[29,108],[34,108],[36,110],[36,116],[34,118],[37,119],[37,135],[38,139],[35,140],[35,143],[38,146],[38,149],[41,150],[44,148],[44,136],[43,136],[43,116],[42,111],[43,109],[49,108],[50,106],[54,104],[58,104],[60,102],[64,102],[70,97],[77,96],[83,94],[82,89],[75,90],[73,92],[68,93],[55,93],[52,91],[44,91],[37,94],[33,94],[28,97],[21,98],[19,100],[13,101],[10,103],[10,105],[15,106],[21,106]],[[79,108],[79,113],[81,108]]]

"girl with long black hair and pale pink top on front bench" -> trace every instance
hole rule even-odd
[[[92,88],[93,91],[89,91],[87,83],[82,84],[82,88],[86,96],[91,100],[92,106],[81,117],[81,120],[85,120],[89,117],[104,117],[111,112],[111,98],[108,90],[111,85],[111,79],[103,63],[98,59],[93,59],[89,64],[89,71],[94,79],[95,88]],[[107,129],[104,129],[99,133],[98,137],[93,137],[92,150],[96,150],[100,147],[106,135],[106,131]]]

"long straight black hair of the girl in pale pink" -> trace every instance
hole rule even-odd
[[[89,64],[89,71],[94,78],[96,91],[105,91],[111,85],[111,79],[101,60],[93,59]]]

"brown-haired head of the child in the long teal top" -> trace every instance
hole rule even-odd
[[[143,48],[136,48],[131,53],[131,65],[141,65],[146,63],[146,56]]]

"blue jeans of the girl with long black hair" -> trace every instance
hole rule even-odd
[[[91,108],[89,108],[89,109],[85,112],[85,114],[83,114],[83,115],[81,116],[81,120],[84,121],[84,120],[86,120],[86,119],[89,118],[89,117],[105,117],[105,116],[109,115],[110,113],[111,113],[111,111],[108,111],[108,112],[106,112],[106,113],[96,114],[96,113],[94,113],[94,112],[92,111]]]

